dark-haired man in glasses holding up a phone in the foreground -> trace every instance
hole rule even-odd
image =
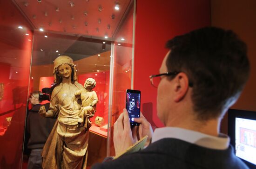
[[[234,155],[229,137],[220,133],[221,119],[240,96],[249,77],[246,45],[232,31],[206,27],[177,36],[158,75],[157,116],[165,125],[152,133],[141,116],[147,148],[93,169],[248,169]],[[157,78],[161,78],[157,83]],[[116,156],[136,141],[127,110],[114,125]]]

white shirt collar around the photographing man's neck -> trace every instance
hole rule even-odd
[[[225,150],[229,147],[229,137],[225,134],[221,133],[218,137],[215,137],[178,127],[162,127],[155,129],[152,143],[162,138],[176,138],[191,144],[217,150]]]

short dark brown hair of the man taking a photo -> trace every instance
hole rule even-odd
[[[233,31],[205,27],[169,40],[168,72],[184,72],[193,84],[197,118],[220,117],[249,77],[246,44]],[[171,78],[171,77],[170,77]]]

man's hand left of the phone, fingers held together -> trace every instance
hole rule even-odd
[[[115,156],[120,155],[124,150],[135,143],[135,139],[132,136],[130,120],[128,112],[123,109],[123,113],[114,124],[114,146]]]

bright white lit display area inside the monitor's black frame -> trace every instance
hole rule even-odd
[[[256,120],[236,118],[236,156],[256,165]]]

